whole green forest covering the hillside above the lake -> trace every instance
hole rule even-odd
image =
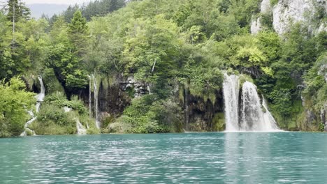
[[[225,73],[256,84],[282,130],[324,131],[327,32],[312,31],[327,21],[321,7],[280,34],[261,0],[99,0],[38,20],[8,0],[0,137],[20,135],[30,109],[27,135],[75,134],[76,120],[87,134],[224,131]]]

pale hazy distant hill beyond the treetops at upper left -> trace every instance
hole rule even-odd
[[[49,17],[52,17],[54,14],[62,13],[68,8],[67,4],[51,4],[51,3],[34,3],[27,4],[27,7],[31,9],[31,16],[36,17],[37,19],[42,16],[44,13]]]

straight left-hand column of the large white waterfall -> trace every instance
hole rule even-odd
[[[224,75],[223,93],[225,100],[226,131],[238,131],[239,77]]]

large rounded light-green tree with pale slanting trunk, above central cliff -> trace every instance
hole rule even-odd
[[[180,38],[177,25],[157,15],[153,20],[138,19],[130,24],[124,54],[125,71],[153,84],[154,93],[169,94],[170,80],[180,64]]]

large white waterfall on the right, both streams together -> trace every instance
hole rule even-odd
[[[223,87],[226,131],[278,131],[266,100],[263,96],[262,99],[259,97],[256,86],[252,82],[244,82],[239,96],[239,85],[238,76],[225,74]]]

